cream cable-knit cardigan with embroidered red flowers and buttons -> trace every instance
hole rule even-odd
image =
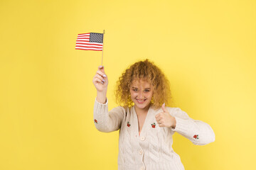
[[[181,159],[172,148],[174,132],[186,137],[194,145],[206,145],[215,141],[210,125],[201,120],[193,120],[180,108],[166,107],[176,118],[176,128],[159,127],[155,115],[161,108],[149,108],[143,128],[139,134],[138,118],[134,106],[125,110],[118,106],[108,111],[105,104],[95,100],[95,127],[100,132],[119,130],[119,170],[182,170]]]

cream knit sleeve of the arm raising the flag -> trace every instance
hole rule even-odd
[[[113,132],[119,130],[122,119],[124,118],[125,110],[122,107],[113,108],[108,111],[107,103],[102,104],[95,99],[95,106],[93,108],[93,117],[95,120],[95,127],[100,132]]]

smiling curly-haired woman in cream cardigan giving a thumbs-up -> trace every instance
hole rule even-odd
[[[101,132],[119,130],[118,169],[184,169],[172,148],[174,132],[194,145],[215,141],[210,125],[193,120],[180,108],[165,106],[171,94],[169,81],[149,60],[132,64],[119,77],[115,90],[119,106],[111,111],[104,67],[98,68],[93,84],[95,127]]]

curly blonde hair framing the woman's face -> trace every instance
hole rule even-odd
[[[156,67],[154,62],[146,59],[135,62],[119,77],[114,90],[114,95],[119,106],[123,106],[124,108],[134,106],[129,90],[132,81],[138,79],[143,79],[153,86],[153,97],[151,98],[151,106],[153,108],[160,108],[163,103],[166,103],[166,105],[169,104],[171,90],[168,79],[166,79],[161,69]]]

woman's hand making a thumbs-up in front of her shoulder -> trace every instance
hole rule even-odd
[[[158,113],[156,115],[156,122],[159,127],[176,128],[176,118],[170,115],[170,113],[165,108],[165,103],[161,106],[164,112]]]

